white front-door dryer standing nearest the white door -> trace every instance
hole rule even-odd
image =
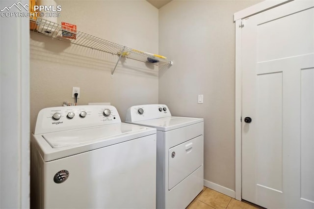
[[[204,120],[174,117],[164,104],[132,106],[126,122],[157,129],[157,208],[184,209],[204,185]]]

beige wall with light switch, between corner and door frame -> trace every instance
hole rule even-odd
[[[205,185],[230,195],[235,191],[233,14],[258,2],[173,0],[159,9],[159,53],[174,60],[159,72],[159,103],[173,115],[204,118]],[[197,104],[198,94],[204,104]]]

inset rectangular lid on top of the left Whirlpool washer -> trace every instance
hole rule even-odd
[[[43,138],[52,148],[61,148],[73,146],[97,140],[105,140],[121,134],[127,134],[133,131],[145,130],[142,126],[130,126],[129,124],[113,124],[88,129],[79,129],[73,131],[59,131],[42,134]]]

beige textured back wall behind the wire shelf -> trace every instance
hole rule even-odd
[[[131,47],[158,52],[158,10],[145,0],[63,1],[58,23]],[[117,55],[30,35],[31,131],[40,109],[74,102],[72,86],[80,87],[78,104],[110,102],[122,120],[135,104],[158,102],[158,68]]]

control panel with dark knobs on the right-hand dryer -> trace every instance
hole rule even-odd
[[[170,110],[165,104],[143,104],[131,106],[127,110],[126,122],[136,122],[170,116]]]

